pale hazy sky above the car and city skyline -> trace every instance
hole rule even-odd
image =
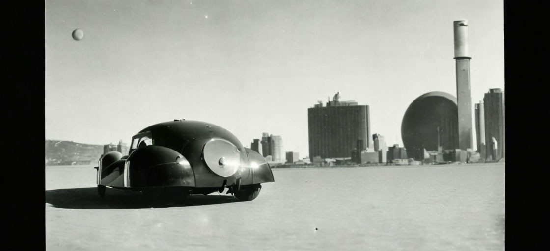
[[[371,133],[402,146],[415,98],[456,97],[454,20],[468,20],[472,105],[504,88],[502,1],[46,0],[45,9],[46,139],[128,143],[158,122],[200,120],[244,146],[281,135],[283,150],[303,158],[307,109],[340,92],[370,106]]]

